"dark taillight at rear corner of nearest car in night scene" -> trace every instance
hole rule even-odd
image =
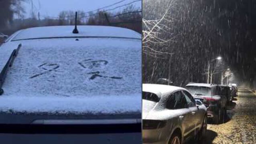
[[[163,128],[166,121],[162,120],[142,120],[142,129],[158,129]]]

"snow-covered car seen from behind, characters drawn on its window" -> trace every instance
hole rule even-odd
[[[0,71],[18,50],[0,75],[0,124],[141,124],[141,35],[111,26],[73,29],[19,30],[0,46]]]

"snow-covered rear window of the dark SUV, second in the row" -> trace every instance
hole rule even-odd
[[[189,92],[192,95],[211,96],[211,88],[208,88],[208,87],[205,87],[205,86],[186,86],[186,89],[189,90]]]

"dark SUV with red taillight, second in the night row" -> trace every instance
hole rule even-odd
[[[220,95],[220,87],[217,84],[189,83],[185,88],[195,99],[205,104],[207,117],[211,118],[215,124],[224,120],[227,98],[225,95]]]

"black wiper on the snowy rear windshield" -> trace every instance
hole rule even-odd
[[[16,58],[16,56],[18,55],[18,51],[20,50],[20,47],[21,47],[21,44],[18,45],[18,48],[16,48],[15,50],[12,51],[12,54],[10,55],[10,58],[9,58],[8,62],[6,62],[4,68],[2,69],[2,71],[0,73],[0,95],[2,95],[4,93],[4,90],[2,89],[2,86],[4,84],[6,74],[8,72],[9,67],[12,66],[14,58]]]

